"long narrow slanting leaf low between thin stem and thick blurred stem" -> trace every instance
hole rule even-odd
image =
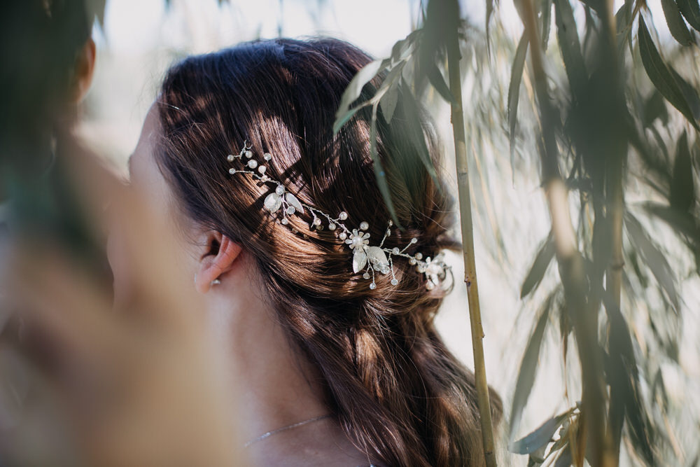
[[[537,325],[530,336],[530,340],[528,340],[525,353],[523,354],[523,359],[520,362],[517,382],[515,383],[515,393],[513,395],[513,405],[510,410],[509,439],[512,438],[513,433],[517,431],[519,427],[525,403],[530,396],[532,385],[535,382],[535,372],[537,370],[537,363],[540,357],[542,337],[545,335],[545,327],[547,326],[549,310],[552,308],[553,301],[554,293],[550,294],[549,297],[547,297],[547,300],[545,300],[545,302],[542,304]]]

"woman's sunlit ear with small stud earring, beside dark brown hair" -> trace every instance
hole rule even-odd
[[[214,279],[221,280],[221,276],[231,270],[242,250],[239,244],[219,232],[209,231],[205,235],[207,251],[195,274],[195,288],[200,293],[207,293]]]

